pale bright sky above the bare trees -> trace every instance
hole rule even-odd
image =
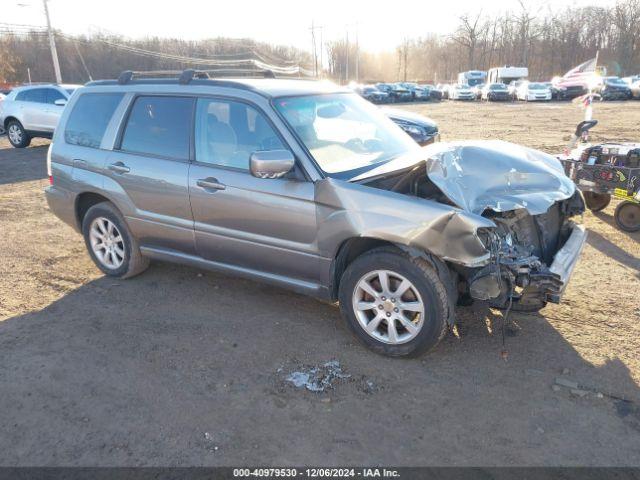
[[[128,37],[248,37],[311,50],[312,22],[323,40],[357,35],[361,48],[393,50],[404,38],[447,34],[458,17],[519,9],[518,0],[48,0],[54,28],[70,34],[103,31]],[[615,0],[524,0],[533,13]],[[0,22],[45,25],[42,0],[0,0]],[[316,30],[319,37],[320,29]]]

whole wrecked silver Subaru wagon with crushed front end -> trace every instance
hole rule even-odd
[[[62,115],[49,176],[51,210],[107,275],[164,260],[339,301],[392,356],[435,346],[459,301],[558,302],[585,241],[555,158],[496,141],[421,148],[327,82],[92,82]]]

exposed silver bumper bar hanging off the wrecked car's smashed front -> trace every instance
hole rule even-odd
[[[549,267],[553,279],[543,290],[545,300],[548,302],[560,302],[560,298],[569,283],[573,269],[578,263],[586,241],[587,231],[585,228],[582,225],[574,224],[571,235],[564,246],[558,250],[553,258],[553,263],[551,263]]]

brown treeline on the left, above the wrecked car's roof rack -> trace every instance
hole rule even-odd
[[[308,52],[252,39],[132,40],[103,34],[72,37],[60,32],[56,32],[55,39],[66,83],[84,83],[90,77],[116,78],[124,70],[259,69],[262,65],[295,70],[310,62]],[[46,32],[0,31],[0,82],[26,82],[29,75],[33,82],[55,80]]]

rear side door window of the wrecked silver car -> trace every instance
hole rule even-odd
[[[189,158],[193,99],[138,97],[122,137],[122,150],[169,158]]]

